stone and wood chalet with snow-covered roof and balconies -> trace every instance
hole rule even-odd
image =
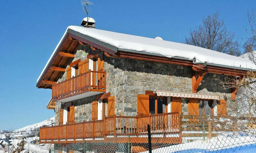
[[[163,143],[182,143],[180,115],[229,115],[236,89],[220,82],[256,71],[244,58],[95,29],[92,18],[81,25],[67,27],[37,79],[38,88],[52,89],[47,109],[55,111],[55,126],[40,129],[40,143],[133,135],[129,142],[138,144],[147,124],[160,130],[160,122]]]

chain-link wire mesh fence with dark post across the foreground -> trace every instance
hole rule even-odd
[[[95,131],[93,137],[84,132],[84,138],[60,138],[50,152],[223,153],[256,150],[255,118],[227,114],[230,113],[109,117],[97,122],[98,127],[84,128],[89,133]]]

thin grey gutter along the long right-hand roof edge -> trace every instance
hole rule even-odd
[[[159,56],[159,57],[166,57],[161,54],[156,54],[156,53],[150,53],[150,52],[143,52],[143,51],[135,51],[135,50],[127,50],[127,49],[122,49],[122,48],[117,48],[118,51],[124,51],[124,52],[131,52],[131,53],[136,53],[136,54],[144,54],[144,55],[152,55],[152,56]],[[192,61],[194,64],[204,64],[206,62],[195,62],[194,59],[188,59],[184,57],[178,57],[174,56],[172,57],[173,59],[181,59],[181,60],[188,60]],[[208,66],[216,66],[216,67],[223,67],[223,68],[230,68],[230,69],[236,69],[236,70],[242,70],[242,71],[253,71],[256,72],[256,70],[250,69],[250,68],[242,68],[242,67],[235,67],[235,66],[226,66],[226,65],[221,65],[221,64],[214,64],[214,63],[207,63]]]

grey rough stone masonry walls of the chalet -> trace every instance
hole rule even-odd
[[[75,58],[70,61],[82,59],[82,52],[86,55],[91,48],[80,46]],[[106,71],[106,93],[115,96],[116,115],[135,116],[137,112],[137,94],[144,94],[145,90],[168,90],[192,92],[192,68],[187,66],[154,63],[142,60],[110,58],[104,55],[104,70]],[[67,72],[61,75],[58,82],[64,81]],[[230,99],[230,90],[223,90],[219,84],[227,76],[206,74],[198,93],[219,94],[221,99]],[[75,122],[89,121],[91,119],[91,102],[95,96],[72,101],[75,105]],[[230,103],[230,101],[227,101]],[[228,105],[229,107],[229,105]],[[56,103],[56,124],[59,120],[60,103]],[[188,99],[182,100],[182,113],[188,114]]]

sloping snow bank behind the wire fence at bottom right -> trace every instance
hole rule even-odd
[[[250,133],[223,132],[209,140],[197,140],[184,144],[172,145],[152,150],[152,153],[248,153],[245,150],[256,150],[256,136]],[[147,152],[144,152],[147,153]]]

